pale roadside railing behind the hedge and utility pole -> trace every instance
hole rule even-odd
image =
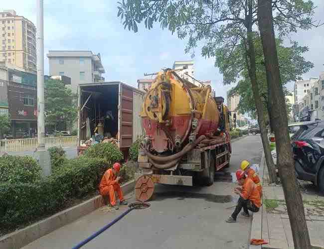
[[[46,147],[67,147],[76,146],[77,136],[53,136],[45,137]],[[18,152],[18,151],[33,151],[37,147],[37,138],[23,139],[1,139],[0,152]]]

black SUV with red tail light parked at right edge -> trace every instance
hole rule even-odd
[[[324,194],[324,121],[301,125],[291,141],[297,178],[313,182]]]

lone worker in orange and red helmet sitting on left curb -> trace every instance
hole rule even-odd
[[[111,207],[118,210],[116,206],[116,196],[115,191],[118,194],[120,205],[127,205],[127,201],[124,200],[122,188],[120,187],[119,181],[121,177],[117,177],[117,173],[120,171],[121,165],[118,162],[115,162],[113,168],[108,169],[103,175],[99,189],[100,194],[103,197],[109,197]]]

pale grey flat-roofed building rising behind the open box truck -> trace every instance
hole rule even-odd
[[[50,75],[64,75],[71,78],[71,89],[76,93],[78,84],[104,82],[101,75],[105,69],[100,54],[91,51],[48,51]]]

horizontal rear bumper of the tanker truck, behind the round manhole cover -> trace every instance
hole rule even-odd
[[[141,177],[142,173],[135,173],[135,180]],[[192,176],[182,175],[157,175],[157,174],[146,174],[150,175],[154,183],[168,184],[168,185],[182,185],[192,186]]]

